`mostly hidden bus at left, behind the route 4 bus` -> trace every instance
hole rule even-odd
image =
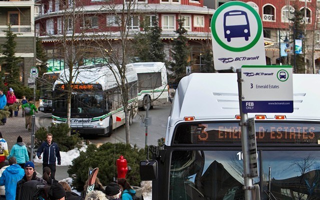
[[[52,87],[59,74],[60,71],[49,71],[42,74],[40,79],[39,111],[45,113],[52,111]]]

